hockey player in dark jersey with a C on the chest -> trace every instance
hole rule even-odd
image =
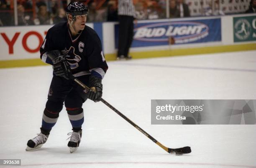
[[[41,132],[28,140],[26,150],[41,148],[46,143],[63,103],[73,130],[68,133],[68,147],[71,153],[77,150],[84,122],[82,104],[87,98],[98,102],[102,97],[101,81],[108,65],[100,38],[92,28],[85,25],[88,8],[83,3],[71,2],[66,13],[68,21],[50,28],[40,48],[41,60],[53,65],[54,75],[43,113]],[[72,75],[90,87],[90,91],[84,92],[71,79]]]

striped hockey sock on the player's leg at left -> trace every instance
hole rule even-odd
[[[44,109],[42,129],[41,129],[41,131],[43,130],[42,132],[43,134],[50,133],[51,128],[56,124],[58,117],[59,117],[59,112],[51,112],[47,109]]]

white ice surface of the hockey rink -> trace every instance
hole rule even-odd
[[[40,132],[51,66],[0,69],[0,159],[27,168],[256,168],[256,125],[151,125],[151,99],[256,99],[256,51],[109,61],[103,98],[169,148],[166,153],[102,102],[84,103],[80,147],[69,153],[65,108],[47,142]],[[255,104],[254,104],[254,107]],[[12,166],[15,167],[15,166]]]

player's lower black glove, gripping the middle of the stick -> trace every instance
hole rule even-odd
[[[89,83],[90,83],[91,89],[88,92],[89,94],[88,98],[94,102],[99,102],[102,97],[102,89],[103,89],[101,79],[94,76],[90,76]]]

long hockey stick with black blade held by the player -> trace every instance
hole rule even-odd
[[[81,87],[83,87],[85,90],[89,91],[90,88],[87,87],[85,84],[83,84],[81,81],[79,81],[78,79],[76,79],[74,76],[71,76],[71,79],[74,80],[75,82],[77,82],[77,84],[79,84]],[[136,127],[137,130],[139,130],[141,133],[143,133],[144,135],[146,135],[149,139],[151,139],[154,143],[156,143],[157,145],[159,145],[161,148],[163,148],[166,152],[168,153],[175,153],[176,155],[182,155],[185,153],[191,153],[191,149],[189,146],[185,146],[183,148],[167,148],[166,146],[162,145],[161,143],[159,143],[154,137],[152,137],[151,135],[149,135],[146,131],[144,131],[141,127],[139,127],[138,125],[136,125],[133,121],[131,121],[130,119],[128,119],[125,115],[123,115],[120,111],[118,111],[118,109],[115,109],[115,107],[113,107],[111,104],[109,104],[107,101],[105,101],[104,99],[101,98],[100,100],[102,103],[104,103],[106,106],[108,106],[110,109],[112,109],[114,112],[116,112],[118,115],[120,115],[123,119],[125,119],[127,122],[129,122],[131,125],[133,125],[133,127]]]

